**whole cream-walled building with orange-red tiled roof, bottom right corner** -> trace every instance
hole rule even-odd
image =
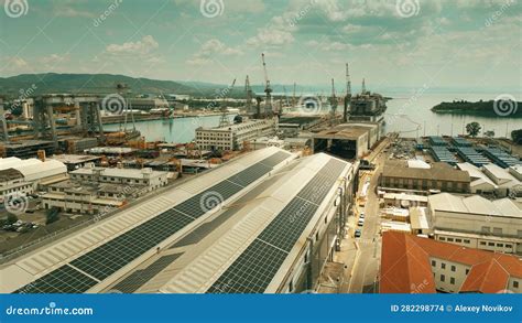
[[[514,256],[388,232],[382,236],[381,293],[522,293]]]

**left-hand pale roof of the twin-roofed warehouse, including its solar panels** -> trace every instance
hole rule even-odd
[[[2,266],[0,277],[10,279],[0,280],[0,292],[99,291],[294,158],[276,148],[258,150],[130,205]]]

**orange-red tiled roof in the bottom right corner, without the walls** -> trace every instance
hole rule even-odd
[[[514,256],[385,232],[382,236],[380,292],[436,292],[429,257],[471,267],[463,283],[463,292],[498,292],[505,289],[510,276],[522,278],[522,261]]]

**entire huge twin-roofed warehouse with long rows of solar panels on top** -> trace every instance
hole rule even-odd
[[[314,289],[344,235],[354,172],[326,154],[253,151],[2,265],[0,292]]]

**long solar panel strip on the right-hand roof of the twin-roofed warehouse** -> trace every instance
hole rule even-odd
[[[207,292],[264,292],[345,165],[335,159],[328,161]]]

